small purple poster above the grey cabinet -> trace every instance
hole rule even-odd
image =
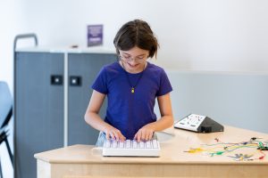
[[[88,25],[88,46],[103,44],[103,25]]]

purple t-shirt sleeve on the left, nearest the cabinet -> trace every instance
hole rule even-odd
[[[106,73],[105,67],[103,67],[99,71],[99,73],[98,73],[95,81],[91,85],[91,88],[93,90],[96,90],[99,93],[104,93],[104,94],[107,94],[108,93],[108,88],[107,88],[107,73]]]

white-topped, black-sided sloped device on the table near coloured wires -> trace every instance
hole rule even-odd
[[[223,126],[210,117],[190,114],[174,124],[175,128],[181,128],[197,133],[222,132]]]

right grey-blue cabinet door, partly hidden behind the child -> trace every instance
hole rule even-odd
[[[69,54],[69,78],[80,78],[80,85],[69,85],[68,88],[68,145],[96,143],[98,131],[88,125],[84,120],[92,93],[91,85],[99,70],[105,64],[112,63],[116,60],[117,57],[115,54]],[[102,118],[105,117],[105,109],[106,101],[100,110],[100,116]]]

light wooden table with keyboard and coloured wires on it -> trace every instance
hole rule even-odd
[[[189,148],[219,142],[247,142],[252,137],[268,142],[268,134],[225,125],[224,132],[197,134],[174,129],[174,136],[161,142],[160,158],[103,157],[93,145],[70,147],[38,153],[38,178],[62,177],[268,177],[268,151],[264,159],[235,160],[235,154],[262,154],[255,148],[240,148],[222,155],[188,153]],[[219,139],[216,142],[215,138]],[[203,146],[204,147],[204,146]],[[219,146],[217,146],[219,147]],[[223,146],[222,146],[223,148]],[[204,148],[203,148],[204,149]]]

